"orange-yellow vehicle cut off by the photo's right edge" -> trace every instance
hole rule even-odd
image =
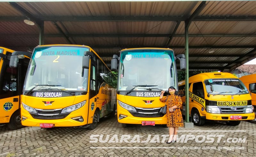
[[[245,75],[239,78],[249,90],[252,97],[253,112],[256,113],[256,74]],[[249,122],[256,123],[256,117]]]

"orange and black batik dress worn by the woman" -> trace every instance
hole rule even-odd
[[[182,101],[180,96],[172,94],[168,97],[163,97],[160,99],[161,102],[166,101],[167,109],[166,109],[166,117],[167,117],[167,127],[183,127],[183,118],[180,111],[180,107],[182,107]],[[172,106],[177,106],[175,111],[169,112],[169,108]]]

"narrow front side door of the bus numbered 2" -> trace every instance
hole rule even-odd
[[[97,108],[97,66],[96,63],[91,59],[90,66],[90,84],[89,84],[89,110],[88,110],[88,124],[92,123],[94,112]],[[99,113],[97,113],[99,114]],[[97,117],[99,120],[99,116]]]

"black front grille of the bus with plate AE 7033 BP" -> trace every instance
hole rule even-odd
[[[163,117],[164,114],[160,113],[162,107],[157,108],[140,108],[135,107],[137,112],[130,112],[134,117]]]

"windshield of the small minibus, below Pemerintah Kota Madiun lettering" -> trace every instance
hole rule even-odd
[[[234,95],[249,93],[239,79],[207,79],[204,81],[206,91],[209,94]]]

